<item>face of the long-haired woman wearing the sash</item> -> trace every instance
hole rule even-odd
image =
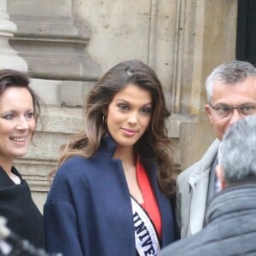
[[[133,147],[148,128],[152,97],[148,90],[128,84],[113,96],[108,106],[107,125],[118,147]]]

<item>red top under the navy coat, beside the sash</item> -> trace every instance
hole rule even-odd
[[[144,203],[141,204],[143,209],[148,213],[149,218],[154,223],[154,227],[159,237],[162,234],[162,221],[160,217],[160,210],[154,195],[154,191],[149,183],[147,173],[144,166],[137,158],[137,182],[143,193]]]

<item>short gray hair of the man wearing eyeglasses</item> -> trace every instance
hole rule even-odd
[[[216,82],[223,84],[236,84],[244,81],[247,77],[256,77],[256,68],[247,61],[231,61],[223,63],[212,70],[207,77],[206,90],[207,101],[210,102],[213,94],[213,86]]]

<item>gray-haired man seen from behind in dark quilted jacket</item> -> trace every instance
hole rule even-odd
[[[255,145],[256,115],[230,126],[218,150],[221,191],[207,207],[206,227],[158,256],[256,255]]]

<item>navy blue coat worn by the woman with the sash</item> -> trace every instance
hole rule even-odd
[[[116,146],[103,137],[90,159],[75,156],[56,172],[44,205],[46,247],[64,256],[136,255],[131,197]],[[156,165],[143,164],[162,218],[162,247],[174,240],[170,201],[157,187]]]

